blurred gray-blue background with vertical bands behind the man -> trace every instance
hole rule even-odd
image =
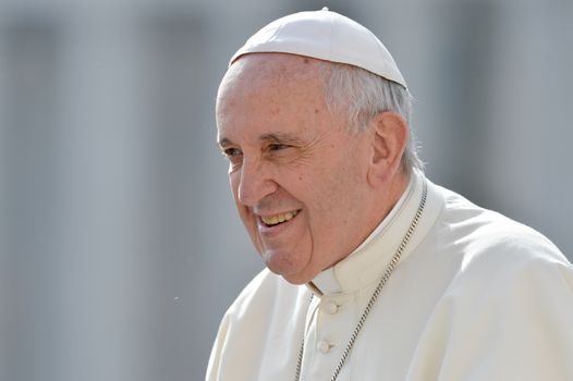
[[[573,258],[571,0],[0,0],[0,380],[202,380],[261,268],[215,144],[228,59],[328,5],[387,45],[428,176]]]

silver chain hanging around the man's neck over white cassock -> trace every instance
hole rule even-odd
[[[346,357],[349,357],[350,352],[352,351],[352,347],[354,346],[354,342],[356,341],[356,337],[358,336],[358,333],[361,332],[362,328],[364,327],[364,322],[366,321],[366,318],[370,314],[370,310],[374,307],[374,304],[376,303],[376,299],[378,298],[378,295],[382,292],[383,286],[386,285],[386,282],[390,279],[390,275],[394,271],[395,267],[400,262],[400,257],[402,257],[402,254],[404,253],[407,243],[410,242],[410,238],[414,234],[414,231],[416,230],[416,226],[419,222],[419,219],[422,218],[422,212],[424,211],[424,207],[426,206],[426,198],[428,195],[428,185],[426,183],[426,179],[424,179],[423,189],[422,189],[422,199],[419,201],[418,210],[416,211],[416,216],[414,216],[414,220],[412,220],[412,223],[410,224],[410,228],[402,238],[402,243],[398,247],[398,250],[395,251],[394,256],[390,260],[390,263],[386,268],[386,271],[382,275],[382,279],[380,279],[380,282],[376,286],[376,290],[373,293],[373,296],[370,297],[370,300],[366,305],[366,308],[364,309],[364,312],[362,312],[361,319],[358,320],[358,323],[356,324],[356,328],[352,332],[352,335],[350,336],[349,344],[346,344],[346,348],[342,353],[342,357],[340,358],[340,361],[334,369],[334,373],[332,373],[332,377],[330,378],[330,381],[334,381],[340,370],[342,369],[342,366],[346,361]],[[310,295],[310,302],[313,300],[313,296]],[[296,362],[296,372],[294,374],[294,381],[300,381],[301,378],[301,368],[303,365],[303,355],[304,355],[304,332],[303,332],[303,341],[301,343],[301,349],[298,351],[298,360]]]

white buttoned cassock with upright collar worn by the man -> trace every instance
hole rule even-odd
[[[307,285],[259,273],[225,314],[207,381],[330,380],[414,219],[425,177]],[[429,181],[422,218],[338,380],[572,381],[573,268],[545,236]],[[310,302],[310,296],[314,295]]]

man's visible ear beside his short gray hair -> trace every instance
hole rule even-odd
[[[380,112],[369,124],[373,140],[368,182],[377,187],[388,184],[401,170],[409,128],[406,122],[395,112]]]

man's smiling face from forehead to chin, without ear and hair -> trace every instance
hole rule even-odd
[[[217,98],[219,145],[236,208],[267,267],[310,281],[373,230],[370,136],[348,132],[324,100],[316,60],[248,54]]]

